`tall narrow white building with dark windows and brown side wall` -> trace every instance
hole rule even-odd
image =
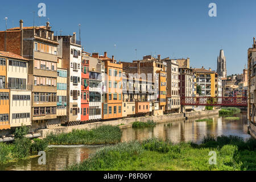
[[[81,42],[73,36],[57,36],[62,68],[67,69],[67,126],[81,123]]]

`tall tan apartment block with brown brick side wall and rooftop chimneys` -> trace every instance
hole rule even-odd
[[[10,28],[0,32],[0,49],[28,59],[28,90],[32,90],[32,130],[43,129],[56,118],[57,46],[49,22],[46,26]],[[3,50],[2,50],[3,51]],[[11,81],[11,80],[10,80]]]

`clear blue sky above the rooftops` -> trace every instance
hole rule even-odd
[[[247,49],[256,36],[256,1],[3,1],[0,7],[0,30],[32,26],[33,11],[46,3],[47,18],[53,31],[63,35],[79,32],[88,52],[108,51],[117,60],[135,60],[144,55],[191,58],[191,67],[217,69],[217,56],[224,49],[228,75],[242,73],[247,64]],[[217,4],[217,17],[209,17],[208,5]],[[46,18],[35,18],[44,25]],[[116,46],[114,46],[116,45]]]

